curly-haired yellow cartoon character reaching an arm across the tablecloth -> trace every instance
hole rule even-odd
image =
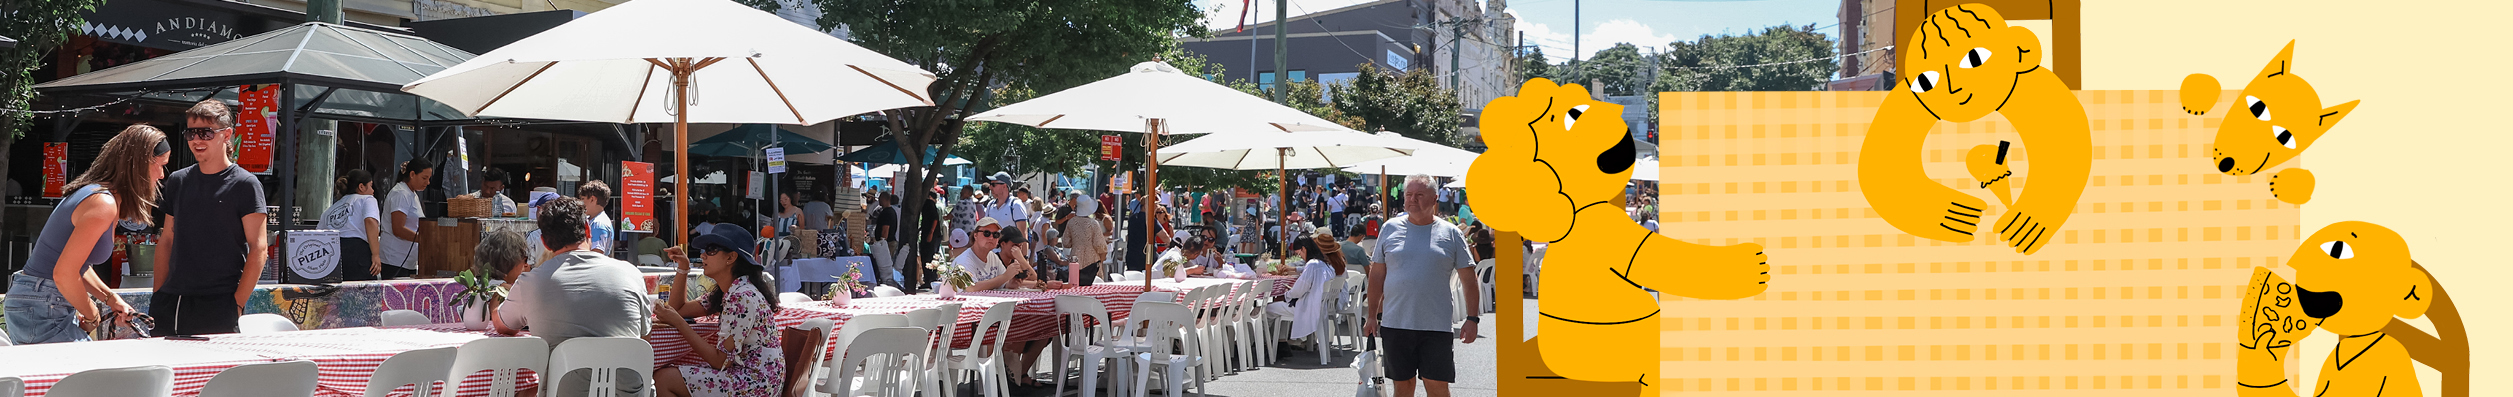
[[[1483,108],[1468,204],[1493,229],[1548,241],[1535,344],[1548,372],[1659,394],[1659,302],[1744,299],[1772,279],[1759,244],[1701,246],[1651,234],[1616,196],[1638,161],[1623,106],[1535,78]]]

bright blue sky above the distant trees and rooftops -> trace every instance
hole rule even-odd
[[[1241,0],[1196,0],[1206,10],[1206,28],[1231,28]],[[1292,0],[1292,15],[1334,10],[1370,0]],[[1543,45],[1556,63],[1571,53],[1571,5],[1578,3],[1581,58],[1606,50],[1613,43],[1633,43],[1644,50],[1664,48],[1671,40],[1701,35],[1742,35],[1769,25],[1814,23],[1824,33],[1840,23],[1840,0],[1510,0],[1518,30],[1528,43]],[[1259,20],[1274,20],[1274,3],[1259,0]]]

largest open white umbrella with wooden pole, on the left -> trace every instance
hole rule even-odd
[[[465,116],[812,126],[932,106],[932,73],[731,0],[633,0],[402,85]],[[681,191],[689,191],[686,186]],[[689,214],[689,193],[673,196]],[[689,216],[676,216],[686,231]],[[689,234],[679,234],[689,244]]]

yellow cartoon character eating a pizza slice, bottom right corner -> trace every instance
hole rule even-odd
[[[2460,314],[2425,266],[2407,254],[2400,234],[2365,221],[2340,221],[2294,249],[2294,284],[2254,269],[2244,296],[2234,354],[2237,394],[2292,397],[2297,387],[2317,397],[2423,394],[2415,362],[2445,372],[2445,394],[2468,394],[2468,337]],[[2435,314],[2430,337],[2397,319]],[[2340,334],[2322,364],[2319,384],[2287,379],[2294,342],[2312,329]]]

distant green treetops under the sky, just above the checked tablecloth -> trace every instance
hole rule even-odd
[[[1814,25],[1774,25],[1754,35],[1679,40],[1669,43],[1669,53],[1659,63],[1664,70],[1651,90],[1822,90],[1840,68],[1832,58],[1834,48],[1837,43],[1817,33]]]

